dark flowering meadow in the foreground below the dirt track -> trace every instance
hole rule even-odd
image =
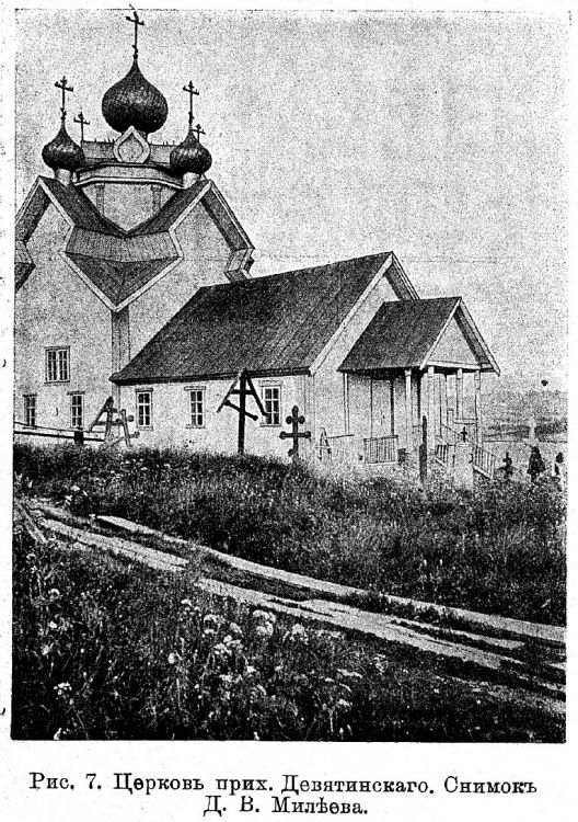
[[[193,582],[16,530],[12,737],[564,739],[540,697],[211,598]]]

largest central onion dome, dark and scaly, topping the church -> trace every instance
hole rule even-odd
[[[169,105],[159,89],[142,76],[135,58],[128,75],[105,92],[102,113],[115,132],[134,126],[137,132],[151,134],[166,122]]]

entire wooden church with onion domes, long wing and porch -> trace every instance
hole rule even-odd
[[[62,78],[42,151],[54,175],[16,217],[15,430],[102,437],[106,418],[108,442],[287,458],[297,407],[305,459],[424,473],[467,443],[492,476],[481,377],[498,367],[463,300],[420,299],[392,251],[254,276],[207,176],[192,83],[185,139],[151,137],[167,103],[140,70],[134,21],[130,70],[102,100],[118,137],[70,137]]]

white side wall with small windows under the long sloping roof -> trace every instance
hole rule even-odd
[[[263,385],[280,385],[281,387],[281,425],[266,426],[258,421],[246,419],[245,452],[262,456],[287,458],[291,441],[279,437],[281,431],[288,431],[286,416],[291,413],[292,406],[302,407],[303,380],[301,377],[281,377],[275,380],[255,380],[259,391]],[[152,429],[140,430],[135,439],[138,446],[157,447],[188,447],[194,450],[210,450],[215,453],[235,454],[238,447],[239,414],[230,408],[223,408],[217,413],[231,380],[199,380],[190,383],[170,383],[158,385],[122,386],[120,403],[127,413],[137,420],[136,398],[142,390],[152,391]],[[190,407],[188,389],[205,389],[205,426],[190,426]],[[235,404],[239,398],[232,398]],[[247,411],[257,413],[254,400],[247,399]],[[132,424],[136,427],[136,422]],[[307,426],[303,426],[307,427]],[[301,442],[301,445],[304,441]]]

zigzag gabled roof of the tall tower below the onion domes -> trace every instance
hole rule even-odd
[[[174,228],[200,202],[231,249],[227,275],[246,276],[253,246],[211,181],[198,180],[176,192],[153,217],[125,231],[103,217],[81,189],[39,176],[16,218],[16,290],[34,269],[26,241],[50,202],[70,225],[65,259],[112,310],[124,308],[182,259]]]

